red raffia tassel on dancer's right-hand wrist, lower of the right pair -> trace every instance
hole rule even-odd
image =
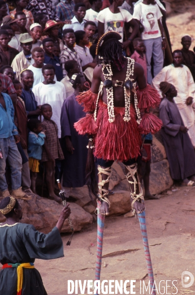
[[[161,129],[162,124],[162,120],[155,115],[144,114],[139,125],[139,129],[142,134],[148,134],[149,132],[151,132],[151,134],[154,134]]]

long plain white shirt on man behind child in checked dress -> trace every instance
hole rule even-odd
[[[61,138],[60,115],[64,100],[66,99],[66,89],[61,82],[56,81],[55,84],[39,83],[33,87],[32,91],[38,105],[49,103],[53,115],[51,119],[57,124],[58,137]]]

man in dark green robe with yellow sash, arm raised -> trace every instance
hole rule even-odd
[[[0,295],[47,295],[34,262],[36,258],[48,260],[64,256],[60,232],[71,214],[69,205],[63,207],[49,234],[21,223],[22,207],[13,197],[5,197],[0,202],[0,213],[6,218],[0,223]]]

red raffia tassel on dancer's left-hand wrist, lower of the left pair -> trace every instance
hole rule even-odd
[[[74,128],[80,135],[88,134],[96,134],[97,132],[97,124],[94,120],[93,114],[87,114],[84,118],[78,120],[78,122],[74,123]]]

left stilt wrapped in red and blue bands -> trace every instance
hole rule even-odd
[[[101,202],[97,201],[97,257],[96,257],[95,280],[100,280],[102,245],[103,245],[103,228],[104,228],[104,221],[105,221],[105,215],[99,214],[100,205],[101,205]]]

